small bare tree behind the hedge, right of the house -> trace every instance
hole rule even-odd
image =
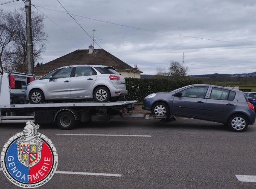
[[[185,77],[189,72],[189,67],[183,67],[179,62],[172,60],[169,73],[172,77]]]

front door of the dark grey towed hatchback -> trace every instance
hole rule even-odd
[[[208,86],[192,86],[174,97],[172,112],[179,115],[202,117]]]

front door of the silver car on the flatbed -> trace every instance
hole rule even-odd
[[[73,67],[63,68],[46,83],[47,98],[70,97],[70,80]]]

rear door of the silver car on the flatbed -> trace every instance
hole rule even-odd
[[[76,67],[74,77],[70,80],[71,97],[87,96],[97,76],[89,66]]]

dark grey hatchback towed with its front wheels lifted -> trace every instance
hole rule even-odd
[[[149,94],[142,109],[153,115],[177,115],[224,123],[243,132],[255,122],[253,104],[243,92],[213,85],[189,85],[172,92]]]

